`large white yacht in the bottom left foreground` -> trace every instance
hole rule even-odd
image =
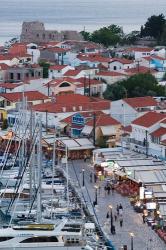
[[[81,223],[66,219],[58,225],[30,224],[0,229],[0,250],[81,250],[86,244]]]

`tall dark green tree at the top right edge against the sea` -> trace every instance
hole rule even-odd
[[[144,28],[141,29],[142,36],[152,36],[156,39],[160,39],[165,23],[166,20],[163,14],[149,17]]]

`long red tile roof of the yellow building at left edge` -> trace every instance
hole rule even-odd
[[[43,95],[42,93],[38,91],[27,91],[24,93],[24,96],[27,97],[28,101],[48,99],[46,95]],[[17,101],[22,100],[23,92],[4,93],[4,94],[0,94],[0,97],[3,97],[10,102],[17,102]]]

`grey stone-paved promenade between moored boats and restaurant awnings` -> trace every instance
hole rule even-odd
[[[94,185],[100,185],[100,191],[98,189],[98,205],[95,206],[95,212],[97,214],[100,226],[103,228],[107,237],[112,241],[116,250],[121,249],[123,245],[128,246],[128,250],[131,250],[131,238],[130,233],[134,233],[134,250],[166,250],[166,244],[157,236],[157,234],[148,227],[147,224],[143,224],[142,216],[137,214],[129,203],[127,197],[123,197],[114,191],[114,194],[105,194],[104,186],[105,182],[91,183],[90,173],[93,172],[90,164],[80,161],[69,162],[69,176],[72,181],[82,186],[83,174],[85,177],[85,187],[81,187],[81,191],[84,194],[88,207],[93,213],[92,203],[95,200],[95,188]],[[78,185],[78,183],[77,183]],[[78,185],[79,189],[79,185]],[[113,207],[113,218],[116,212],[117,204],[121,203],[123,206],[123,227],[120,227],[119,220],[113,224],[116,228],[116,234],[110,233],[110,218],[106,218],[109,211],[109,205]]]

